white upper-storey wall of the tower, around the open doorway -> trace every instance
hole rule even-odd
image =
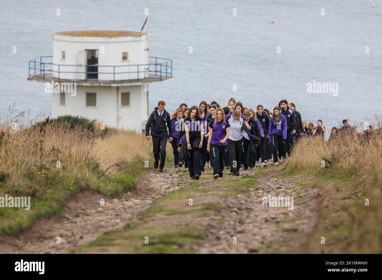
[[[104,53],[101,52],[104,47]],[[144,78],[144,71],[147,66],[132,66],[136,64],[147,64],[147,42],[146,35],[137,37],[76,37],[53,35],[53,77],[58,78],[58,68],[60,68],[60,78],[62,79],[84,79],[81,74],[62,73],[62,72],[85,72],[85,67],[69,66],[86,64],[86,52],[84,52],[84,61],[79,61],[80,50],[98,50],[98,72],[110,74],[98,74],[99,80],[129,80],[136,79],[136,72],[139,68],[139,78]],[[61,59],[61,51],[65,51],[65,60]],[[122,52],[128,51],[128,61],[122,61]],[[60,67],[58,67],[60,64]],[[65,66],[68,65],[68,66]],[[102,66],[119,66],[115,67],[116,73],[134,72],[126,74],[113,75],[113,67]],[[48,66],[45,66],[47,68]],[[50,67],[50,66],[49,66]]]

